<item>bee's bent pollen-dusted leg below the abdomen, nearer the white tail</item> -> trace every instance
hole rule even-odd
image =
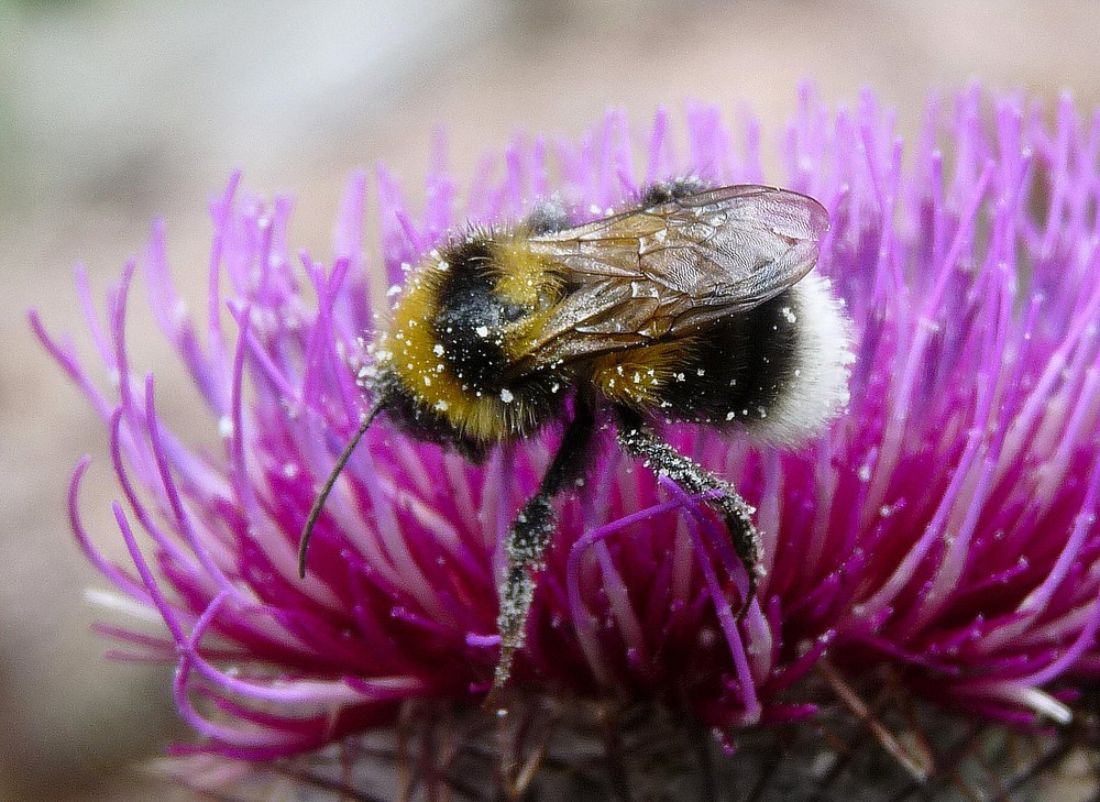
[[[738,618],[745,617],[749,604],[756,597],[758,571],[760,567],[760,534],[752,523],[756,512],[741,498],[737,490],[728,482],[715,476],[694,460],[684,457],[648,426],[642,417],[632,409],[616,407],[618,415],[618,441],[623,449],[634,457],[645,461],[659,476],[668,476],[689,493],[721,493],[710,499],[726,520],[729,537],[733,540],[737,559],[745,565],[749,578],[748,592],[745,595]]]

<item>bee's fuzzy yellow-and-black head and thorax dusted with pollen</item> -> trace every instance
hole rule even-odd
[[[515,241],[474,232],[429,253],[361,378],[409,436],[484,459],[557,417],[568,382],[527,364],[518,333],[557,294]]]

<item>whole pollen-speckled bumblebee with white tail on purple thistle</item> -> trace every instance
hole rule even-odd
[[[727,482],[661,439],[663,424],[737,428],[794,444],[847,402],[849,325],[811,274],[828,215],[765,186],[680,178],[618,213],[571,226],[543,204],[508,229],[472,229],[428,253],[371,345],[360,383],[374,400],[318,496],[378,414],[474,462],[562,421],[557,453],[505,542],[494,695],[522,647],[552,501],[588,464],[597,421],[625,451],[708,494],[748,574],[760,572],[755,512]]]

